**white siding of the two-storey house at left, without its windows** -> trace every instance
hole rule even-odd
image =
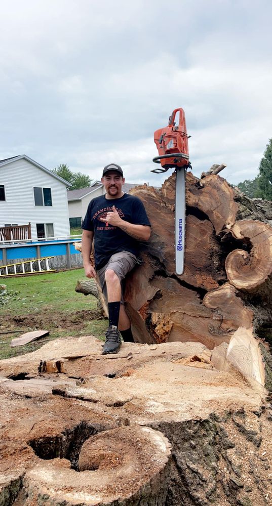
[[[5,185],[6,192],[6,201],[0,201],[0,227],[30,222],[33,239],[37,237],[37,223],[53,223],[55,236],[70,233],[64,183],[22,158],[0,166],[0,184]],[[34,187],[51,188],[52,206],[35,205]]]

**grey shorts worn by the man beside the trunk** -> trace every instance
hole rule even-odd
[[[121,286],[122,286],[122,298],[121,298],[121,304],[124,304],[123,299],[123,283],[125,276],[130,272],[133,267],[138,263],[137,258],[133,253],[130,253],[129,251],[119,251],[118,253],[114,253],[104,267],[102,269],[98,269],[97,275],[99,278],[99,283],[102,289],[102,292],[105,296],[106,301],[107,299],[107,286],[105,283],[105,272],[107,269],[112,269],[115,274],[119,277]]]

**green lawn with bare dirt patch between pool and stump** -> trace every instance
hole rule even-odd
[[[75,269],[1,279],[8,295],[4,305],[0,302],[0,358],[28,353],[68,335],[95,335],[103,340],[108,320],[98,315],[97,300],[74,289],[77,280],[84,277],[84,269]],[[10,347],[12,339],[34,329],[49,330],[49,336]]]

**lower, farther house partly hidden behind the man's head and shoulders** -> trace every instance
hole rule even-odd
[[[124,183],[122,189],[124,192],[129,193],[131,188],[134,188],[136,185],[134,183]],[[68,206],[69,206],[69,217],[70,217],[70,226],[71,227],[80,227],[82,220],[84,219],[89,202],[93,200],[94,197],[98,197],[100,195],[104,195],[105,189],[104,186],[100,183],[100,181],[94,181],[93,184],[87,188],[82,188],[81,190],[70,190],[67,192],[68,196]]]

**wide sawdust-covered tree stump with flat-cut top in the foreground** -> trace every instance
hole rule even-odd
[[[58,339],[0,361],[0,402],[5,506],[272,504],[266,392],[200,343]]]

